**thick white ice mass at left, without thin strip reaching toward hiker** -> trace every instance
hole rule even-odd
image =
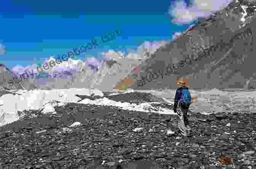
[[[54,113],[54,106],[66,103],[77,103],[80,98],[75,94],[91,94],[103,96],[97,89],[59,89],[59,90],[34,90],[16,91],[16,95],[5,94],[0,97],[0,126],[14,122],[19,119],[18,111],[43,110],[43,113]]]

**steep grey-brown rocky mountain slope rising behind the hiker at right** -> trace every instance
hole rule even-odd
[[[256,2],[233,1],[195,29],[159,48],[131,73],[133,89],[176,88],[186,78],[193,89],[256,88],[253,39]],[[120,81],[118,85],[121,85]]]

